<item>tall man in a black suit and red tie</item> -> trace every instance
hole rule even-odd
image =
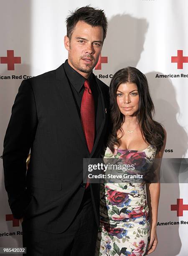
[[[83,158],[101,157],[107,138],[108,87],[92,73],[107,19],[86,6],[66,24],[68,61],[21,83],[4,140],[5,188],[32,256],[92,256],[97,240],[100,185],[83,183]]]

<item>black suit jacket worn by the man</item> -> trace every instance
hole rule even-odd
[[[100,158],[108,136],[109,87],[96,78],[103,114],[89,154],[64,64],[23,80],[5,134],[5,189],[14,218],[32,228],[61,233],[81,204],[83,158]],[[101,114],[101,113],[100,113]],[[29,151],[30,164],[26,174]],[[99,187],[90,184],[99,225]]]

